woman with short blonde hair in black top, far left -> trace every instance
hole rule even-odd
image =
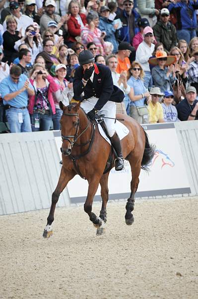
[[[3,33],[3,62],[8,64],[18,56],[18,51],[14,49],[14,44],[21,38],[21,32],[16,30],[17,22],[13,16],[6,18],[7,30]]]

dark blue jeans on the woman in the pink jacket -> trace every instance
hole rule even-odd
[[[39,128],[35,128],[35,119],[38,119]],[[52,115],[33,113],[30,115],[32,132],[49,131],[52,123]]]

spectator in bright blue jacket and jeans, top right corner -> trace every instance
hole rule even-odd
[[[197,16],[195,10],[198,9],[198,1],[177,0],[172,2],[168,9],[177,15],[178,39],[185,39],[189,44],[190,40],[196,36]]]

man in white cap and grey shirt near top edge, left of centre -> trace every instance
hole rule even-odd
[[[55,8],[56,2],[54,0],[47,0],[45,2],[45,13],[40,18],[41,34],[48,28],[48,23],[50,21],[55,21],[57,23],[57,31],[61,28],[67,31],[67,21],[70,16],[65,15],[60,17],[60,15],[55,13]]]

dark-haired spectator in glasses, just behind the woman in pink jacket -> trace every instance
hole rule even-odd
[[[54,48],[54,42],[50,38],[43,40],[43,51],[37,56],[42,56],[45,59],[46,68],[53,76],[55,76],[55,67],[60,64],[60,60],[52,54]]]

